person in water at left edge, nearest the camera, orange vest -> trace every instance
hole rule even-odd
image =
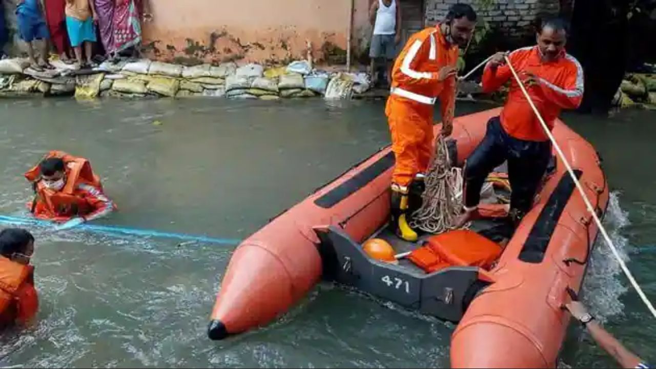
[[[30,265],[33,253],[34,237],[27,230],[0,232],[0,327],[29,322],[39,309]]]

